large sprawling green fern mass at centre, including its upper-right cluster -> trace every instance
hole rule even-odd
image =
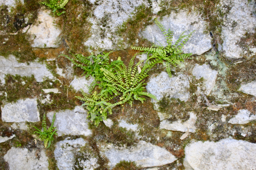
[[[123,105],[127,102],[132,107],[134,100],[139,100],[143,103],[146,100],[143,96],[157,100],[154,95],[145,92],[147,84],[144,81],[148,77],[148,72],[157,63],[163,63],[171,77],[170,65],[176,66],[191,56],[191,54],[184,54],[181,48],[193,32],[188,35],[183,35],[183,32],[178,41],[172,45],[173,32],[170,30],[166,32],[157,19],[155,22],[164,36],[166,36],[168,45],[166,47],[155,45],[150,48],[132,47],[134,50],[140,50],[139,54],[148,53],[146,61],[141,60],[138,63],[134,63],[136,57],[134,55],[128,67],[126,67],[124,62],[121,61],[121,57],[109,63],[109,53],[96,56],[92,54],[89,57],[73,55],[73,58],[64,55],[77,67],[82,68],[86,77],[92,75],[95,78],[89,94],[81,90],[83,97],[76,96],[76,98],[83,101],[82,106],[88,110],[88,118],[90,118],[91,123],[98,126],[101,121],[107,119],[108,114],[112,114],[112,108],[117,105]],[[95,86],[97,88],[94,88]],[[118,98],[116,102],[112,100],[114,97]]]

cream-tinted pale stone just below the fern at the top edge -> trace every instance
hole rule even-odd
[[[49,15],[50,12],[49,10],[39,11],[36,24],[24,28],[23,32],[27,31],[34,40],[32,47],[57,48],[59,46],[61,31],[54,26],[55,21]]]

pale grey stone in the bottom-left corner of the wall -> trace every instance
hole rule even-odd
[[[29,152],[27,148],[12,147],[4,155],[4,160],[8,162],[10,170],[48,170],[48,158],[44,150],[41,150],[39,153],[36,152],[38,152],[36,149]]]

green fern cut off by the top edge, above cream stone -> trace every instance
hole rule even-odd
[[[49,3],[47,2],[41,2],[42,4],[46,5],[47,7],[52,9],[52,12],[60,16],[61,14],[65,13],[65,11],[60,12],[60,9],[64,9],[64,6],[68,3],[68,0],[49,0]]]

